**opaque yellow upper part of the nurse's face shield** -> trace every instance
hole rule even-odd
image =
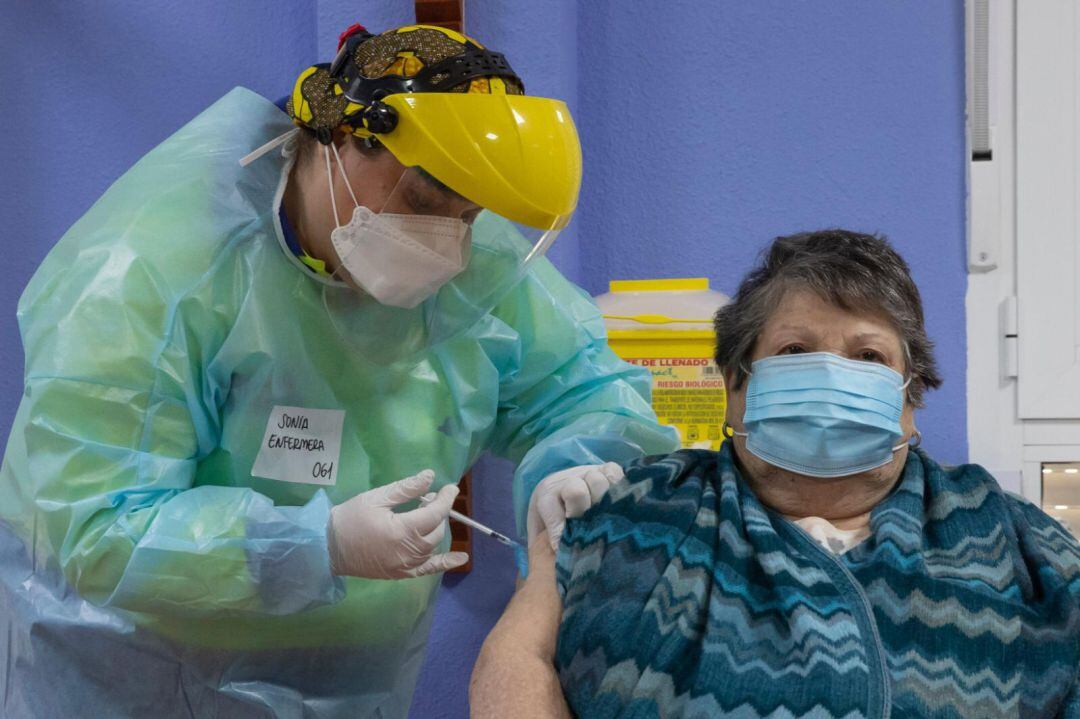
[[[400,93],[382,103],[397,126],[378,138],[403,165],[514,222],[542,231],[569,222],[581,145],[565,103],[478,93]]]

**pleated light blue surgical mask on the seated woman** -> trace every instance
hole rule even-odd
[[[908,380],[910,381],[910,380]],[[743,416],[746,449],[811,477],[843,477],[892,461],[902,449],[907,382],[874,362],[828,352],[758,360]]]

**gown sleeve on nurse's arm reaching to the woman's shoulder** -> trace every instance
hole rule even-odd
[[[649,372],[616,356],[595,303],[546,259],[494,314],[516,337],[501,380],[492,451],[518,463],[518,531],[532,490],[549,474],[678,447],[675,429],[658,424],[649,404]]]

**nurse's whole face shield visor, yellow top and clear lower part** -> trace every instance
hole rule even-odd
[[[378,363],[489,313],[567,225],[581,179],[563,103],[460,93],[383,101],[400,120],[378,138],[405,169],[378,208],[355,199],[335,207],[334,275],[348,290],[325,295],[338,330]],[[326,162],[338,172],[329,153]]]

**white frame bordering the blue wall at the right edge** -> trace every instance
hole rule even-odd
[[[968,448],[969,459],[989,470],[1003,487],[1032,502],[1042,498],[1042,462],[1080,460],[1080,403],[1076,420],[1021,420],[1017,402],[1018,372],[1024,370],[1017,336],[1017,225],[1016,225],[1016,66],[1031,63],[1017,55],[1029,48],[1016,42],[1016,0],[982,0],[989,11],[988,113],[975,105],[974,22],[981,0],[966,0],[968,54]],[[1053,13],[1058,2],[1024,2],[1022,21],[1032,13]],[[1042,18],[1038,18],[1042,19]],[[991,159],[974,159],[972,126],[976,114],[988,114]],[[1023,151],[1023,148],[1020,148]],[[988,257],[989,261],[980,261]],[[1030,324],[1031,318],[1028,317]]]

